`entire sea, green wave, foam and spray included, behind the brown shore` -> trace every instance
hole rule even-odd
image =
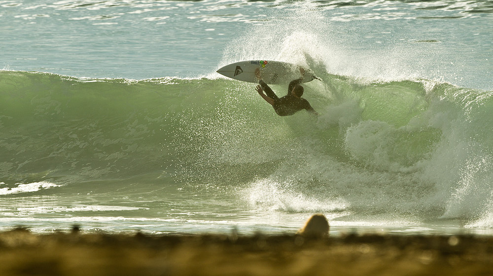
[[[493,235],[492,1],[0,0],[0,37],[0,230]],[[256,59],[320,116],[215,72]]]

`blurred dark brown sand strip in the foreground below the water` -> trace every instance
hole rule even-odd
[[[0,275],[493,275],[493,237],[0,233]]]

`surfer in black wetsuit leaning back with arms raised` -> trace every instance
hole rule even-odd
[[[318,115],[318,112],[308,103],[307,100],[301,98],[304,88],[299,85],[305,77],[305,69],[300,67],[301,78],[295,79],[289,83],[287,89],[287,95],[279,98],[274,91],[262,80],[260,75],[260,69],[255,69],[255,76],[258,79],[259,85],[255,89],[260,96],[269,104],[274,107],[274,111],[279,116],[289,116],[294,113],[305,109],[312,114]],[[265,91],[265,94],[264,94]],[[266,95],[267,94],[267,95]]]

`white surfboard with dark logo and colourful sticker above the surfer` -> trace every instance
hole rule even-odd
[[[217,70],[221,75],[247,82],[258,82],[255,77],[255,69],[260,69],[260,75],[267,84],[288,83],[301,77],[300,66],[281,61],[240,61],[228,64]],[[305,77],[302,82],[309,82],[317,77],[310,69],[305,69]]]

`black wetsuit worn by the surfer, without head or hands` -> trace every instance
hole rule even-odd
[[[265,94],[274,100],[274,110],[279,116],[289,116],[293,115],[294,113],[306,109],[310,112],[314,112],[315,110],[313,107],[308,103],[307,100],[303,98],[298,98],[293,95],[291,95],[291,91],[293,91],[293,88],[298,85],[301,82],[301,79],[295,79],[289,83],[289,87],[287,90],[287,95],[279,98],[274,91],[263,81],[260,80],[259,84],[260,87],[265,91]]]

